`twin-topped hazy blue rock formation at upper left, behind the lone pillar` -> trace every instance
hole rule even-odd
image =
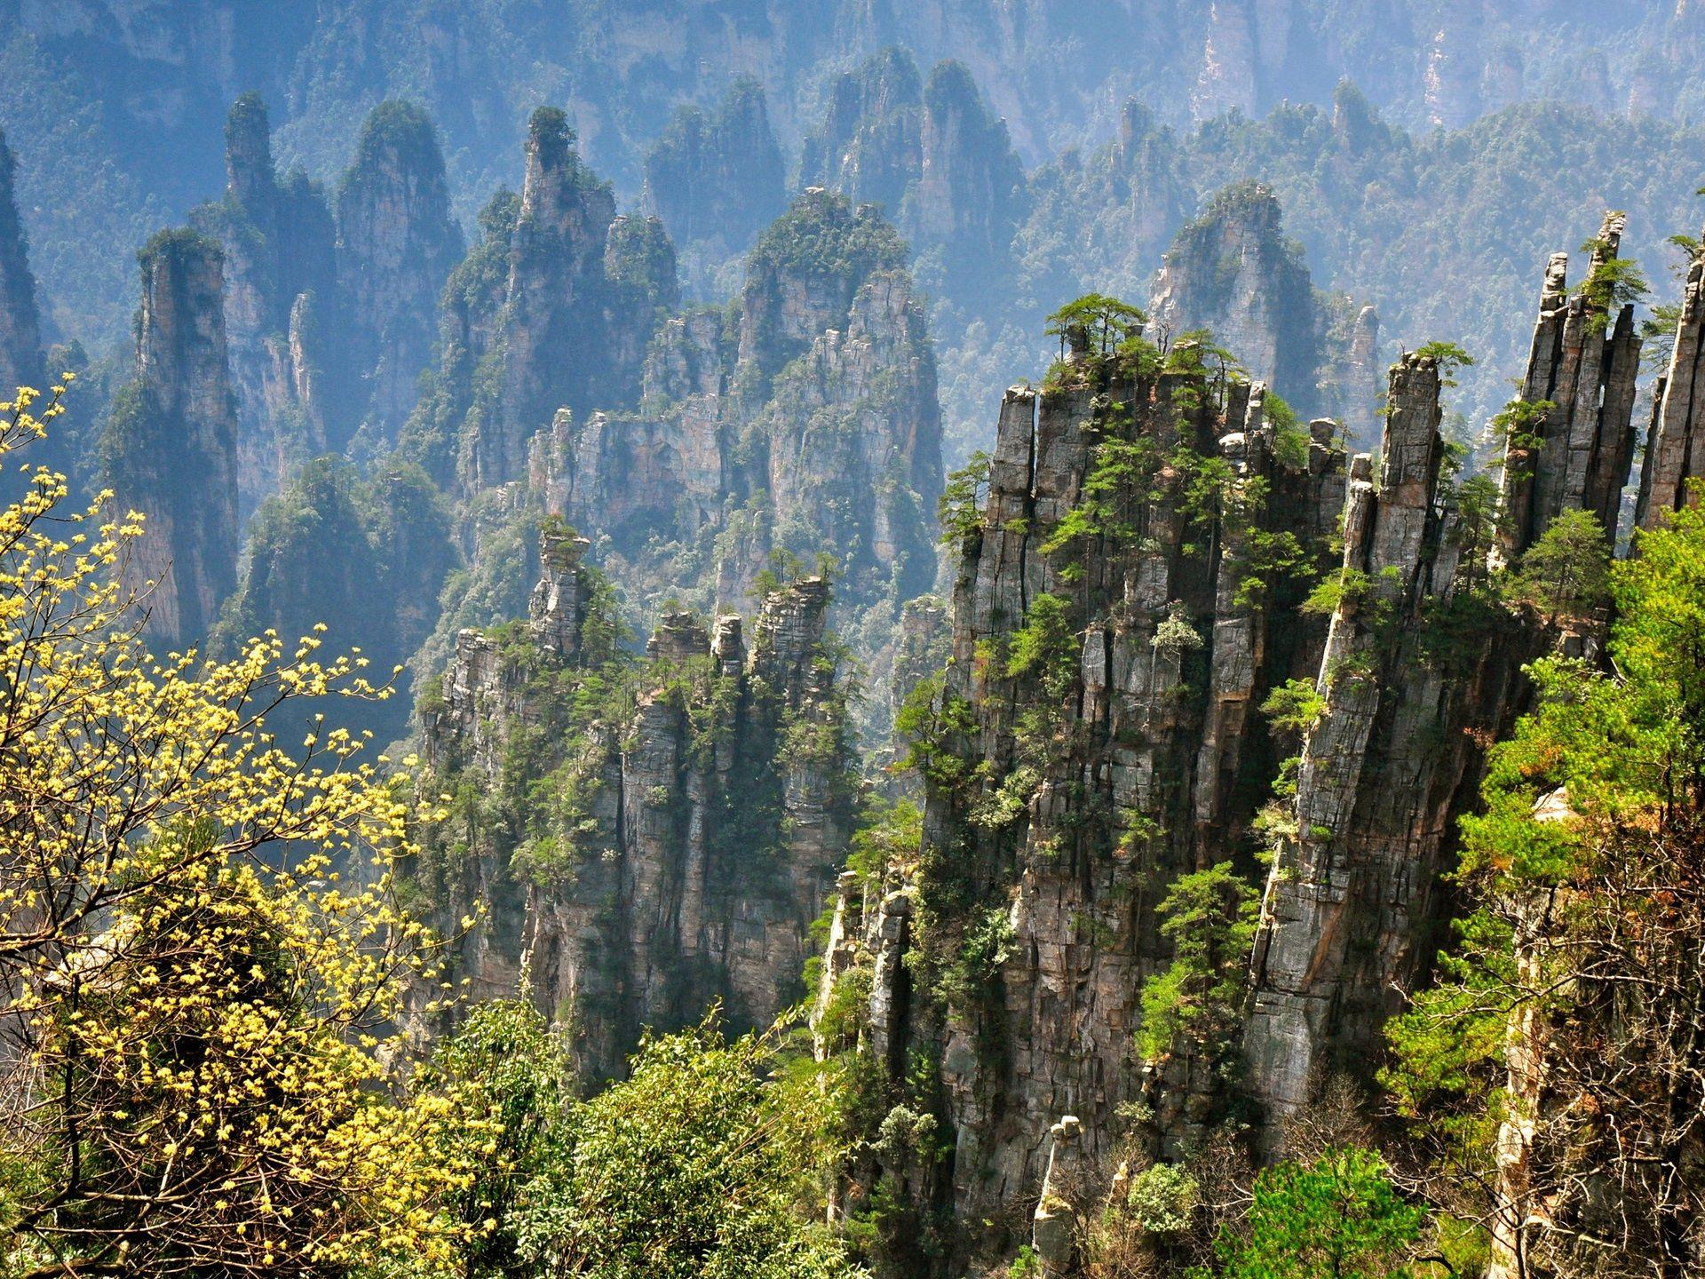
[[[360,431],[385,447],[431,358],[431,310],[460,232],[419,109],[368,116],[336,198],[280,176],[257,94],[225,126],[227,188],[193,223],[225,251],[225,327],[239,413],[244,518],[310,457]]]

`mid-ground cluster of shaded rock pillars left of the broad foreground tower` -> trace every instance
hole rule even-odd
[[[530,619],[464,631],[423,706],[430,784],[464,796],[425,858],[438,900],[491,904],[460,950],[476,991],[525,974],[597,1079],[641,1027],[713,999],[767,1025],[801,994],[808,926],[846,858],[852,754],[822,580],[764,600],[750,653],[738,617],[675,612],[634,662],[609,648],[583,549],[547,525]]]

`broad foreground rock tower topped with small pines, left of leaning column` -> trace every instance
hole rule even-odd
[[[1187,496],[1207,472],[1212,510]],[[1272,774],[1253,708],[1325,641],[1294,616],[1303,583],[1257,547],[1323,542],[1342,495],[1330,430],[1280,443],[1263,389],[1219,382],[1195,348],[1165,365],[1081,353],[1057,387],[1006,392],[917,747],[917,870],[864,894],[832,960],[871,982],[871,1052],[939,1069],[939,1091],[893,1078],[887,1103],[933,1110],[955,1149],[854,1184],[895,1178],[960,1221],[1009,1223],[1035,1204],[1061,1115],[1093,1168],[1134,1132],[1120,1107],[1159,1100],[1171,1068],[1132,1039],[1168,958],[1156,904],[1183,871],[1250,861]],[[1156,1153],[1217,1105],[1205,1064],[1185,1076],[1200,1095],[1144,1137]],[[1013,1247],[1004,1230],[979,1243]]]

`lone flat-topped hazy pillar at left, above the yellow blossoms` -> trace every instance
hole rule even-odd
[[[130,576],[159,583],[148,629],[199,643],[237,578],[237,404],[227,375],[223,256],[191,230],[140,254],[136,373],[116,397],[101,447],[114,508],[145,530]]]

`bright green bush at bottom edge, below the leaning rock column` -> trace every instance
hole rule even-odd
[[[1328,1149],[1311,1165],[1280,1163],[1255,1178],[1246,1235],[1214,1247],[1219,1279],[1400,1279],[1425,1221],[1391,1187],[1384,1160]]]

